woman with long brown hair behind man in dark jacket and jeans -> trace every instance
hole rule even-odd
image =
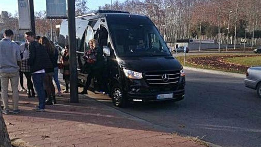
[[[45,78],[44,78],[44,89],[47,92],[48,101],[45,102],[45,105],[53,105],[53,103],[56,103],[55,99],[55,88],[52,83],[52,76],[54,73],[54,48],[50,44],[50,41],[46,37],[41,37],[39,39],[39,43],[44,46],[43,49],[47,50],[49,59],[52,62],[52,68],[44,69],[45,70]]]

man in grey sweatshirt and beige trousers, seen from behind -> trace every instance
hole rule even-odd
[[[18,81],[19,66],[21,61],[19,46],[11,42],[14,33],[7,29],[4,31],[4,39],[0,41],[0,79],[1,79],[1,96],[4,104],[4,114],[9,114],[8,106],[8,83],[11,81],[13,97],[13,113],[20,113],[18,109]]]

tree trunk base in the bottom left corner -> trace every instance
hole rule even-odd
[[[2,110],[0,108],[0,147],[12,147],[11,141],[7,132],[6,125],[4,123],[4,118]]]

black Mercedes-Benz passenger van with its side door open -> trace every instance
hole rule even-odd
[[[70,30],[69,30],[70,31]],[[99,10],[76,17],[78,83],[86,83],[82,56],[96,39],[104,51],[103,82],[114,105],[129,102],[179,101],[185,96],[185,73],[153,22],[143,15]],[[59,45],[68,43],[68,21],[60,26]],[[98,90],[92,80],[89,90]]]

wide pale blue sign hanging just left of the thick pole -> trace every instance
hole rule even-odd
[[[46,0],[46,18],[67,18],[66,0]]]

